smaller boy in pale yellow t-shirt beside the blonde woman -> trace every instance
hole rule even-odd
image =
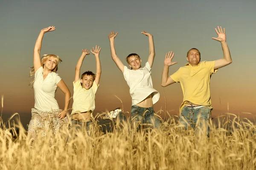
[[[80,69],[84,58],[89,55],[87,49],[82,50],[81,57],[76,64],[75,81],[73,82],[74,94],[73,94],[73,106],[72,106],[72,124],[86,126],[86,129],[90,129],[91,114],[95,109],[95,94],[99,86],[99,79],[101,75],[101,64],[99,60],[99,52],[101,48],[96,45],[95,49],[90,50],[96,58],[96,74],[87,71],[81,75]]]

